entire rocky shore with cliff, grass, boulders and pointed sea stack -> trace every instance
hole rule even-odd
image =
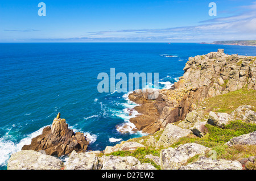
[[[8,169],[255,170],[255,60],[221,52],[189,57],[183,77],[170,90],[129,95],[139,104],[130,110],[139,112],[130,122],[147,136],[86,151],[88,138],[68,129],[58,115],[31,145],[11,155]],[[240,102],[237,94],[251,98]],[[224,104],[226,95],[234,99],[228,112],[205,107],[209,100]],[[68,155],[67,162],[52,155]]]

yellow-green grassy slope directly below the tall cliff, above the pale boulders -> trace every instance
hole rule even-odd
[[[206,112],[214,110],[216,112],[231,113],[236,110],[236,108],[243,105],[254,106],[253,111],[256,111],[256,90],[240,89],[227,94],[218,95],[206,99],[205,103],[201,106],[207,107]]]

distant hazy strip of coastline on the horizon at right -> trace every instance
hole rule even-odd
[[[256,40],[232,40],[232,41],[213,41],[213,43],[201,44],[214,44],[214,45],[240,45],[240,46],[252,46],[256,47]]]

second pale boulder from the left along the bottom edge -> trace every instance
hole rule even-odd
[[[73,150],[65,163],[65,170],[97,170],[99,166],[97,155],[99,153],[100,151],[76,153]]]

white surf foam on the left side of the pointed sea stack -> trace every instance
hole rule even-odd
[[[13,142],[10,139],[11,136],[8,133],[0,138],[0,165],[6,166],[10,155],[20,151],[24,145],[31,144],[32,138],[42,134],[44,128],[45,127],[40,128],[38,131],[35,131],[31,134],[27,134],[26,137],[24,137],[18,143]]]

